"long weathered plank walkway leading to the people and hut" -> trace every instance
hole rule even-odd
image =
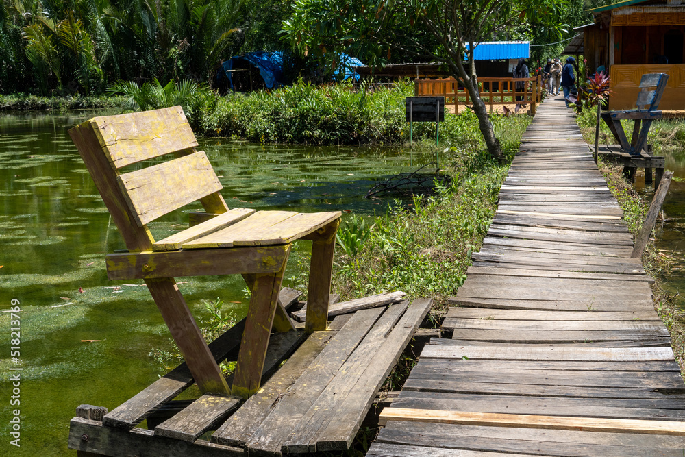
[[[621,208],[543,103],[368,456],[684,456],[685,384]]]

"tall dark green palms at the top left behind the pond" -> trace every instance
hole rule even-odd
[[[3,0],[0,90],[92,95],[117,79],[211,82],[246,29],[279,24],[268,14],[248,21],[256,10],[244,0]]]

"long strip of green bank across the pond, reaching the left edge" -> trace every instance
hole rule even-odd
[[[0,111],[119,108],[122,112],[181,105],[198,136],[223,136],[256,143],[388,145],[408,143],[405,97],[414,86],[357,90],[349,83],[313,86],[298,82],[277,90],[219,95],[206,86],[122,85],[114,97],[0,95]],[[460,132],[454,121],[440,127],[447,143]],[[414,123],[414,140],[434,138],[434,123]],[[475,143],[473,144],[475,147]]]

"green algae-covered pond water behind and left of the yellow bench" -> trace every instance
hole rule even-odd
[[[142,281],[110,282],[105,273],[105,254],[125,246],[66,133],[99,114],[0,114],[0,310],[13,299],[21,306],[18,360],[10,358],[16,324],[0,313],[0,455],[66,454],[76,406],[118,406],[160,375],[151,349],[169,347]],[[380,214],[387,201],[364,199],[366,191],[426,161],[392,148],[200,143],[231,207]],[[150,227],[160,239],[184,223],[179,211]],[[216,297],[245,314],[240,277],[177,280],[200,321],[203,300]],[[12,406],[16,373],[21,404]],[[10,444],[14,410],[21,447]]]

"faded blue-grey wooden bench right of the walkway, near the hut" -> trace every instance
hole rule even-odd
[[[640,156],[643,150],[647,152],[647,134],[654,119],[661,119],[662,112],[657,108],[666,90],[669,75],[666,73],[650,73],[643,75],[640,80],[640,92],[636,101],[637,110],[610,111],[601,114],[612,134],[621,145],[623,152],[630,156]],[[653,87],[654,90],[649,90]],[[623,131],[622,120],[634,120],[633,134],[630,142]]]

